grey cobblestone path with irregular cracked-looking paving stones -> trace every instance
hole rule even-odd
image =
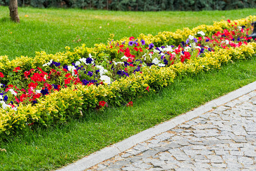
[[[89,170],[256,170],[256,92],[221,105]]]

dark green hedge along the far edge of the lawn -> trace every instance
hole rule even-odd
[[[254,8],[256,0],[18,0],[18,4],[121,11],[200,11]],[[0,0],[0,5],[9,5],[9,0]]]

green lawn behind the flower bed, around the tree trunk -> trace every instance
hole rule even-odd
[[[213,21],[221,19],[256,15],[255,9],[125,12],[19,7],[21,23],[17,25],[7,19],[8,7],[0,6],[0,11],[0,55],[9,55],[10,59],[21,55],[35,56],[35,51],[52,54],[64,51],[66,46],[74,48],[82,43],[92,47],[95,43],[107,42],[111,33],[115,34],[115,39],[138,36],[140,33],[156,35],[160,31],[212,25]],[[81,41],[77,42],[79,39]]]

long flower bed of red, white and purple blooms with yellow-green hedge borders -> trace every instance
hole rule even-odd
[[[220,68],[255,55],[247,35],[256,16],[156,36],[85,45],[55,55],[0,56],[0,135],[65,122],[88,108],[132,106],[131,99],[170,85],[177,75]]]

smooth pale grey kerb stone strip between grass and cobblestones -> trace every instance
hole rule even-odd
[[[169,131],[170,129],[184,123],[185,121],[200,116],[201,114],[212,110],[214,107],[225,104],[231,100],[237,99],[238,97],[245,95],[246,93],[249,93],[251,91],[254,91],[255,89],[256,82],[247,84],[246,86],[243,86],[233,92],[227,93],[227,95],[221,96],[218,99],[209,101],[208,103],[201,105],[198,108],[192,109],[192,111],[176,116],[173,119],[170,119],[169,121],[165,121],[164,123],[156,125],[155,127],[146,129],[145,131],[137,133],[136,135],[133,135],[128,139],[125,139],[123,141],[120,141],[119,143],[103,148],[95,153],[90,154],[89,156],[83,157],[82,159],[70,165],[64,166],[64,168],[60,168],[58,170],[85,170],[91,168],[92,166],[99,164],[104,160],[108,160],[109,158],[114,157],[117,154],[124,152],[129,148],[132,148],[132,146],[135,146],[138,143],[142,143],[148,139],[151,139],[151,137],[159,135],[162,132]]]

